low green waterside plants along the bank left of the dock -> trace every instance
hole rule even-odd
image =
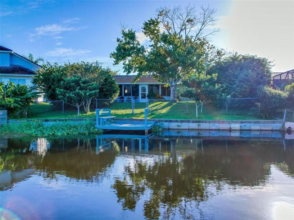
[[[43,122],[13,123],[1,126],[1,135],[25,135],[32,137],[50,137],[67,135],[102,134],[93,122],[55,122],[45,125]]]

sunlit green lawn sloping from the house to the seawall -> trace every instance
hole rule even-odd
[[[135,110],[132,114],[131,103],[115,102],[97,106],[97,108],[110,108],[111,115],[117,118],[144,118],[145,103],[134,103]],[[254,120],[254,115],[249,114],[249,109],[241,108],[239,111],[218,109],[211,105],[203,105],[202,113],[198,108],[198,117],[196,117],[194,102],[167,102],[159,101],[149,104],[149,119],[206,119],[206,120]],[[187,113],[188,110],[188,113]],[[49,103],[35,103],[31,106],[32,119],[58,119],[58,118],[78,118],[77,110],[73,106],[65,106],[64,114],[62,114],[62,106],[55,106]],[[94,118],[95,106],[92,106],[91,112],[83,113],[80,108],[80,118]]]

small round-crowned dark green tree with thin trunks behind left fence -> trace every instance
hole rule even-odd
[[[80,115],[81,105],[85,112],[90,111],[91,99],[98,97],[99,86],[90,79],[74,76],[64,79],[56,91],[58,98],[66,104],[76,106],[77,115]]]

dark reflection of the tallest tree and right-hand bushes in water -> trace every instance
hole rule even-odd
[[[144,199],[144,216],[148,219],[159,219],[161,215],[169,218],[177,207],[181,207],[183,218],[194,218],[195,210],[186,210],[187,201],[193,201],[197,208],[212,195],[211,187],[217,192],[224,185],[265,184],[270,164],[288,161],[289,152],[293,155],[293,149],[287,153],[275,141],[186,139],[161,140],[160,144],[150,140],[154,145],[149,146],[149,152],[155,145],[169,149],[157,153],[152,163],[140,156],[125,165],[123,178],[116,178],[112,185],[123,209],[135,210],[138,201]],[[287,167],[284,170],[291,173],[292,162],[288,162],[279,163],[279,167]]]

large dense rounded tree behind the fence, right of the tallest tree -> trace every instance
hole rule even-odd
[[[208,70],[217,73],[217,83],[223,86],[222,93],[233,98],[259,97],[258,89],[271,82],[272,62],[256,55],[233,53],[218,60]]]

